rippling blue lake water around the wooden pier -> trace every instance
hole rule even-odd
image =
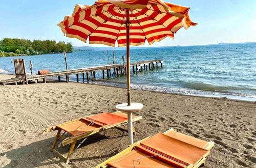
[[[116,64],[122,63],[125,53],[115,50]],[[108,64],[106,51],[73,52],[67,57],[69,69]],[[16,58],[26,60],[28,73],[30,60],[33,73],[41,69],[65,70],[62,54]],[[256,43],[131,50],[131,62],[156,59],[164,60],[163,68],[132,74],[133,89],[256,101]],[[110,60],[113,61],[112,51]],[[14,73],[10,58],[0,58],[0,73]],[[74,75],[70,78],[76,80]],[[102,72],[96,72],[96,78],[102,78]],[[96,81],[119,87],[125,87],[125,82],[125,76]]]

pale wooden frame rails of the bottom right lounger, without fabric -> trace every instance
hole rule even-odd
[[[170,132],[170,131],[174,131],[174,128],[171,128],[171,129],[165,131],[163,134],[166,134],[166,133],[168,133],[168,132]],[[131,151],[134,149],[134,147],[135,147],[136,145],[139,145],[142,141],[145,141],[147,138],[150,138],[150,137],[151,137],[151,136],[148,136],[148,137],[142,139],[141,141],[138,141],[138,142],[136,142],[136,143],[130,145],[128,148],[124,149],[123,151],[119,152],[118,154],[116,154],[115,156],[109,158],[108,160],[102,162],[101,164],[95,166],[94,168],[106,168],[106,167],[108,167],[108,165],[106,165],[108,162],[110,162],[110,161],[112,161],[112,160],[114,160],[114,159],[116,159],[116,158],[118,158],[118,157],[120,157],[120,156],[123,156],[123,155],[125,155],[126,153],[131,152]],[[215,144],[215,143],[214,143],[213,141],[209,142],[209,145],[208,145],[205,149],[206,149],[206,150],[210,150],[210,149],[214,146],[214,144]],[[189,164],[189,165],[187,166],[187,168],[191,168],[191,167],[197,168],[197,167],[200,167],[202,164],[205,164],[205,159],[206,159],[207,156],[208,156],[208,155],[206,155],[204,158],[202,158],[202,159],[201,159],[199,162],[197,162],[197,164],[195,164],[195,165]]]

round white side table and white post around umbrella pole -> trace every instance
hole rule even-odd
[[[129,143],[133,144],[133,112],[139,111],[143,108],[143,104],[141,103],[131,103],[131,105],[127,105],[127,103],[116,105],[116,109],[119,111],[123,111],[127,113],[128,116],[128,134],[129,134]]]

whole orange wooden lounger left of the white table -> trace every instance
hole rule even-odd
[[[141,116],[133,116],[133,121],[138,121],[140,119],[142,119]],[[72,154],[76,142],[79,139],[84,138],[83,141],[77,146],[77,148],[86,140],[88,136],[105,129],[119,128],[120,126],[125,124],[127,124],[127,114],[117,111],[115,113],[102,113],[98,115],[87,116],[76,120],[72,120],[53,127],[49,127],[46,130],[44,130],[43,133],[49,132],[51,130],[58,130],[51,151],[55,152],[60,158],[65,159],[66,163],[68,164],[69,157]],[[61,133],[61,131],[63,133]],[[133,131],[135,133],[134,128]],[[65,133],[68,134],[69,136],[66,137]],[[63,139],[63,141],[58,145],[58,147],[71,144],[67,156],[60,154],[55,149],[55,146],[60,138]]]

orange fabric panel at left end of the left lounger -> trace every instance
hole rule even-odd
[[[59,125],[57,127],[68,132],[73,136],[77,136],[77,135],[92,131],[96,128],[99,128],[99,126],[92,125],[92,124],[89,125],[89,124],[90,123],[88,122],[79,120],[79,121]]]

